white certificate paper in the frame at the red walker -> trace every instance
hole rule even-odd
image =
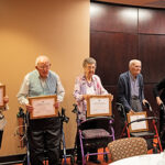
[[[145,114],[140,114],[140,116],[131,116],[130,117],[130,121],[135,121],[138,119],[144,119],[145,118]],[[146,128],[146,121],[141,121],[141,122],[133,122],[131,123],[131,130],[134,131],[134,130],[145,130],[147,129]]]

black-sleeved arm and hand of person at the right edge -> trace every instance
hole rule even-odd
[[[153,94],[154,97],[156,98],[156,102],[160,106],[161,103],[163,103],[162,99],[160,98],[160,91],[162,89],[165,89],[165,78],[162,79],[157,85],[154,86],[153,88]]]

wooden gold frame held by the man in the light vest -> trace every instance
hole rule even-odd
[[[33,101],[35,100],[40,100],[40,99],[50,99],[50,98],[54,98],[54,103],[57,101],[57,96],[53,95],[53,96],[38,96],[38,97],[29,97],[29,102],[32,106]],[[42,118],[52,118],[52,117],[57,117],[58,116],[58,109],[54,108],[55,110],[55,114],[50,114],[50,116],[38,116],[38,117],[33,117],[33,111],[30,113],[30,119],[42,119]]]

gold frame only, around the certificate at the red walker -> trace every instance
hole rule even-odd
[[[146,111],[143,111],[143,112],[135,112],[135,113],[128,113],[128,122],[130,123],[131,122],[131,117],[132,116],[145,116],[144,118],[146,118]],[[148,122],[147,120],[144,120],[145,122],[145,125],[146,125],[146,129],[138,129],[138,130],[132,130],[132,127],[131,124],[129,125],[129,130],[130,132],[143,132],[143,131],[148,131]],[[138,122],[139,123],[139,122]]]

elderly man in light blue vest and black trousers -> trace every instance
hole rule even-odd
[[[58,108],[65,91],[58,75],[50,70],[51,63],[48,57],[38,56],[35,62],[35,68],[24,77],[18,94],[19,102],[24,105],[29,112],[32,112],[33,107],[29,105],[28,97],[56,95],[57,102],[55,107]],[[48,164],[58,164],[61,141],[61,121],[58,117],[30,120],[28,140],[31,165],[43,165],[45,147],[48,151]]]

